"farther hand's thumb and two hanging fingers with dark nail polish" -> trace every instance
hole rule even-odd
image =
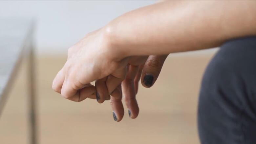
[[[139,114],[139,106],[136,100],[136,94],[138,93],[139,80],[141,77],[141,84],[150,88],[156,82],[163,63],[167,55],[150,55],[145,64],[136,66],[128,65],[127,74],[122,81],[122,93],[124,95],[124,102],[128,108],[128,113],[131,118],[136,118]],[[118,105],[116,103],[119,103]],[[117,121],[123,118],[123,107],[119,102],[112,101],[112,110],[116,114]]]

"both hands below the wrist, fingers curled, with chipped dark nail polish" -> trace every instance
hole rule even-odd
[[[129,116],[136,118],[139,79],[151,87],[156,81],[167,55],[123,56],[113,50],[105,33],[97,30],[87,34],[68,51],[68,59],[53,80],[53,90],[64,98],[80,102],[110,100],[115,121],[124,115],[122,94]],[[90,83],[95,81],[95,86]]]

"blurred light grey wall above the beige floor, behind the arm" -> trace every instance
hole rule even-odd
[[[0,18],[35,17],[37,52],[58,54],[66,53],[86,33],[118,15],[153,3],[153,0],[0,1]]]

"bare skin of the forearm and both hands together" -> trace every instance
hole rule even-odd
[[[138,83],[152,75],[155,83],[167,55],[220,46],[256,35],[256,1],[164,1],[125,13],[88,33],[68,51],[53,80],[64,98],[109,100],[120,121],[122,95],[131,118],[139,114]],[[95,86],[90,82],[96,80]]]

